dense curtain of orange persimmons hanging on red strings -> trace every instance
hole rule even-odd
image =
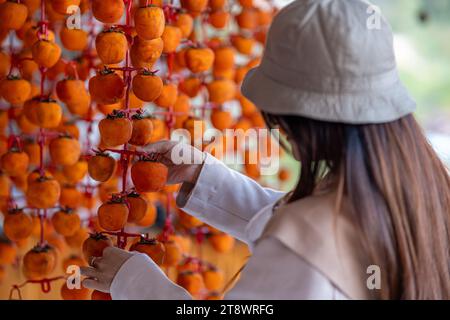
[[[79,6],[74,12],[81,15],[81,28],[64,26],[70,5]],[[147,253],[196,298],[221,297],[223,274],[205,260],[202,244],[207,239],[220,254],[231,250],[234,239],[175,207],[177,188],[165,186],[162,155],[145,152],[145,145],[170,137],[174,129],[192,131],[193,121],[219,130],[263,126],[261,114],[236,88],[259,63],[258,47],[276,13],[271,1],[265,5],[251,0],[0,4],[0,36],[8,37],[8,49],[0,52],[0,93],[9,104],[0,111],[0,127],[8,132],[0,141],[0,199],[9,239],[0,242],[0,271],[22,266],[26,278],[12,286],[10,299],[21,299],[28,284],[47,293],[57,281],[64,282],[64,299],[110,299],[84,288],[69,290],[67,276],[54,270],[58,256],[71,252],[64,270],[84,265],[113,239],[119,248]],[[243,170],[259,178],[257,166],[245,164]],[[96,210],[98,200],[103,204]],[[165,219],[151,238],[148,227],[158,203]],[[27,250],[34,236],[37,245]],[[189,249],[191,236],[196,250]]]

